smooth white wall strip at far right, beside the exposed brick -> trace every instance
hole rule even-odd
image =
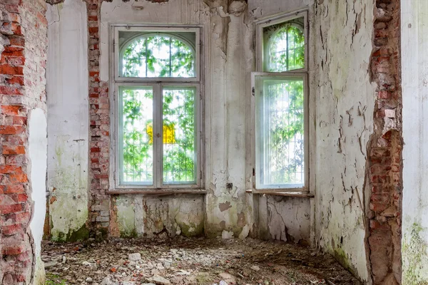
[[[401,6],[403,284],[428,282],[428,1]]]

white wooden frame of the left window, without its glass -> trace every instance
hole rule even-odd
[[[182,190],[190,190],[197,192],[203,189],[204,172],[203,172],[203,90],[202,83],[202,27],[201,26],[163,26],[163,25],[138,25],[138,24],[111,24],[109,25],[109,43],[110,44],[110,58],[114,60],[110,63],[110,90],[113,94],[110,96],[111,101],[111,147],[110,147],[110,192],[180,192]],[[119,76],[119,59],[122,52],[118,46],[119,31],[141,31],[142,33],[175,33],[175,32],[193,32],[195,33],[195,77],[191,78],[135,78],[135,77],[122,77]],[[121,87],[153,87],[153,185],[143,185],[138,182],[127,182],[121,184],[120,175],[121,167],[119,165],[120,159],[119,147],[121,142],[119,140],[119,125],[121,110],[119,103],[121,100],[119,96],[119,88]],[[163,88],[164,87],[195,87],[195,152],[197,157],[196,162],[196,179],[195,184],[163,184],[163,135],[160,138],[156,134],[163,132]],[[159,142],[159,140],[161,140]]]

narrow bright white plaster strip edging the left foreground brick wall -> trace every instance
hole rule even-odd
[[[34,258],[36,259],[35,279],[44,279],[41,261],[41,239],[46,214],[46,168],[48,161],[48,138],[45,111],[36,108],[29,114],[29,157],[31,162],[31,199],[34,201],[33,217],[30,223],[34,238]]]

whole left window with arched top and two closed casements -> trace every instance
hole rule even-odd
[[[203,186],[200,28],[113,25],[111,190]]]

